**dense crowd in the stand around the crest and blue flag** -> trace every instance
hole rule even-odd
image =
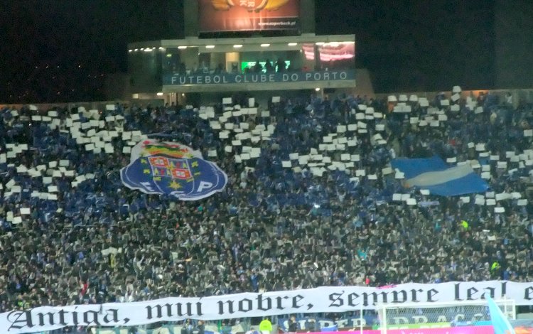
[[[69,132],[72,114],[81,123],[95,117],[83,109],[55,109],[51,121],[32,117],[46,117],[48,110],[2,109],[0,312],[331,285],[533,281],[529,203],[518,205],[517,196],[499,200],[505,212],[495,213],[495,206],[476,204],[475,195],[467,195],[469,202],[464,196],[423,195],[383,172],[400,156],[476,159],[491,166],[489,192],[526,199],[533,137],[524,130],[531,129],[532,107],[513,107],[495,95],[463,96],[451,104],[438,95],[429,107],[418,99],[399,100],[282,97],[259,106],[255,115],[230,117],[250,130],[272,129],[269,140],[256,144],[259,158],[243,162],[235,159],[242,146],[229,152],[231,139],[220,139],[198,109],[117,105],[99,111],[100,120],[114,117],[102,129],[177,141],[216,162],[229,177],[227,187],[193,202],[122,186],[119,170],[129,153],[123,153],[120,136],[109,141],[112,152],[96,153]],[[247,105],[248,99],[232,102]],[[394,112],[399,103],[411,111]],[[225,107],[215,105],[215,114]],[[266,110],[269,115],[262,115]],[[432,119],[419,122],[436,119],[436,110],[446,120],[441,117],[437,126],[429,124]],[[360,122],[360,113],[367,131],[359,131],[362,126],[336,131],[339,124]],[[411,122],[412,117],[419,120]],[[345,151],[321,150],[322,160],[313,166],[325,171],[313,174],[311,163],[298,165],[294,158],[291,168],[282,166],[291,153],[318,150],[323,136],[332,133],[356,144]],[[476,151],[471,142],[485,148]],[[327,168],[326,157],[341,161],[345,152],[360,156],[348,165],[353,167]],[[60,175],[46,175],[64,160]],[[68,170],[86,180],[72,185]],[[360,170],[365,176],[356,176]],[[481,173],[480,167],[475,171]],[[51,183],[44,182],[47,177]],[[56,191],[57,198],[43,197]],[[417,205],[393,200],[395,193],[410,194]],[[21,208],[30,210],[19,214]]]

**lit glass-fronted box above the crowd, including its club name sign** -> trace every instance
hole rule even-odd
[[[131,48],[129,72],[134,92],[180,85],[355,80],[355,42]]]

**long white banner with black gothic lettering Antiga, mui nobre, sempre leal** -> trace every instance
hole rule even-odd
[[[220,320],[290,313],[340,313],[375,309],[380,303],[428,303],[483,300],[489,291],[516,305],[533,303],[533,282],[510,281],[400,284],[385,288],[323,286],[316,289],[238,293],[205,298],[163,298],[135,303],[42,306],[0,314],[0,333],[34,333],[66,326],[144,325],[187,318]]]

